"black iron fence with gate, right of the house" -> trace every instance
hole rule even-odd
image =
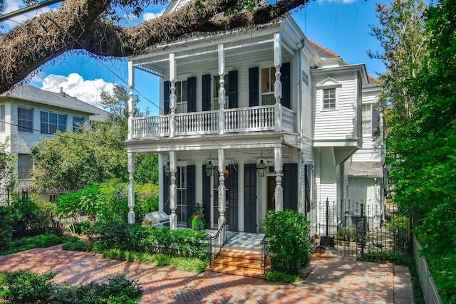
[[[343,256],[368,252],[401,251],[410,254],[411,219],[398,206],[342,200],[317,204],[313,219],[316,250]]]

